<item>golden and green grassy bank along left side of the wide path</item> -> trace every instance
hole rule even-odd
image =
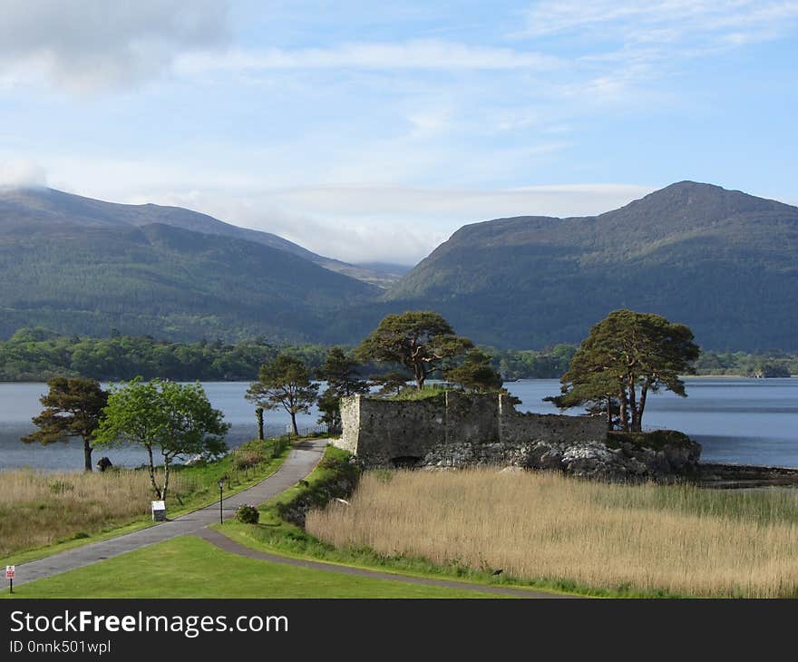
[[[217,462],[176,466],[170,479],[170,517],[237,492],[277,471],[285,440],[253,442]],[[92,473],[0,473],[0,560],[21,563],[151,524],[153,498],[146,470]]]

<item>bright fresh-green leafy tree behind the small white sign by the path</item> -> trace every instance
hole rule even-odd
[[[152,490],[159,499],[169,492],[170,467],[184,455],[218,455],[227,450],[229,423],[210,406],[202,386],[136,378],[112,391],[95,435],[95,446],[138,443],[147,451]],[[161,455],[163,482],[155,476]]]

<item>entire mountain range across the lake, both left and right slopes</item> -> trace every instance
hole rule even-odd
[[[408,273],[189,209],[0,191],[0,336],[268,336],[355,344],[433,309],[478,343],[578,343],[619,307],[714,349],[798,349],[798,208],[683,181],[594,217],[466,225]],[[401,276],[401,277],[400,277]]]

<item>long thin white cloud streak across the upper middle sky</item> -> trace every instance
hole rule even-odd
[[[559,64],[558,58],[546,54],[427,39],[399,44],[351,43],[297,50],[236,49],[220,55],[189,53],[180,55],[175,67],[179,73],[197,74],[293,69],[550,70]]]

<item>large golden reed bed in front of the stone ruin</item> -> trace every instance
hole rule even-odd
[[[526,579],[698,596],[798,594],[798,493],[608,485],[552,473],[367,473],[312,511],[336,547]]]

